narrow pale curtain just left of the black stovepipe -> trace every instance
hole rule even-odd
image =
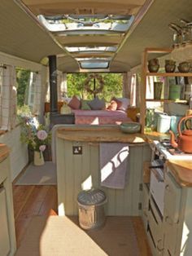
[[[33,110],[34,115],[39,116],[41,114],[41,73],[33,73],[33,85],[34,85],[34,100],[33,100]]]

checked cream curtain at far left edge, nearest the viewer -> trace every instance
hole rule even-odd
[[[16,71],[11,65],[0,67],[0,129],[11,130],[16,123]]]

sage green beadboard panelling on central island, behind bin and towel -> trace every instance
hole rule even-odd
[[[72,146],[81,145],[82,155],[73,155]],[[148,145],[129,147],[129,168],[124,189],[104,188],[100,186],[99,145],[89,142],[71,142],[57,138],[57,173],[59,215],[78,214],[77,195],[85,183],[92,179],[94,188],[101,188],[107,195],[107,215],[140,214],[138,204],[142,202],[142,163],[150,159]],[[89,187],[86,187],[89,188]]]

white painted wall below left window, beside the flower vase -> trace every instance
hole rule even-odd
[[[13,181],[28,163],[28,148],[20,143],[20,126],[0,135],[0,143],[5,143],[11,149],[11,181]]]

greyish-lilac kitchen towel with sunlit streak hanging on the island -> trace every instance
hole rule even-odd
[[[100,143],[101,186],[123,189],[128,170],[127,143]]]

